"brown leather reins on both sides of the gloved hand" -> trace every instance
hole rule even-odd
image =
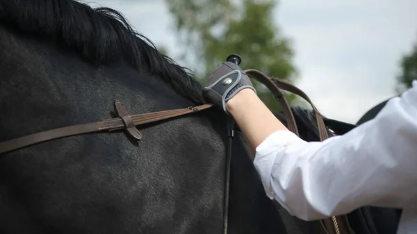
[[[294,94],[299,95],[307,102],[309,102],[309,104],[313,108],[313,113],[316,117],[320,141],[325,140],[329,137],[327,135],[327,128],[322,119],[322,116],[320,115],[320,112],[318,112],[316,106],[313,105],[309,97],[304,92],[302,92],[302,90],[298,89],[297,87],[286,81],[281,81],[275,78],[265,76],[265,74],[255,69],[247,69],[245,70],[245,73],[248,76],[254,78],[256,81],[259,81],[260,83],[263,83],[263,85],[268,87],[268,89],[272,92],[272,94],[274,94],[275,98],[279,101],[279,103],[281,103],[284,115],[288,122],[288,130],[292,131],[296,135],[299,135],[293,112],[281,90],[293,92]],[[5,142],[0,142],[0,155],[2,153],[8,153],[10,151],[15,151],[17,149],[29,147],[33,144],[47,142],[49,140],[101,131],[116,131],[124,129],[129,136],[135,138],[136,140],[140,140],[142,135],[140,134],[136,126],[159,122],[166,119],[172,119],[174,117],[200,112],[202,110],[206,110],[208,108],[213,107],[213,104],[208,103],[201,106],[188,107],[182,109],[163,110],[158,112],[149,112],[140,115],[128,115],[120,101],[116,100],[114,105],[117,115],[119,116],[117,118],[104,119],[99,122],[91,122],[87,124],[65,126],[62,128],[54,128],[39,133],[33,133],[31,135],[17,137],[15,139],[7,140]],[[343,223],[342,221],[343,220],[341,219],[341,217],[337,217],[337,219],[336,217],[332,217],[332,219],[323,219],[322,226],[329,234],[347,233],[343,226],[338,226],[338,224]],[[339,231],[339,229],[341,229],[341,231]]]

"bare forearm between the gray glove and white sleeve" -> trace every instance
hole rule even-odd
[[[227,102],[226,107],[253,149],[256,149],[268,135],[276,131],[288,131],[250,89],[238,92]]]

